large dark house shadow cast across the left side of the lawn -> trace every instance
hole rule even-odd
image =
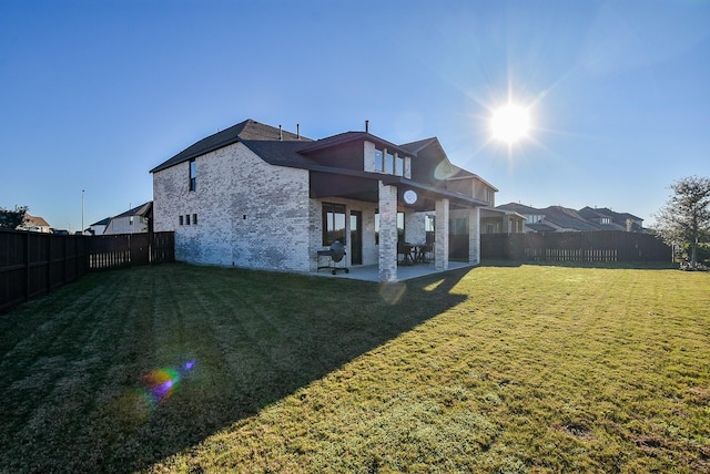
[[[0,472],[149,468],[458,305],[468,271],[88,276],[0,318]]]

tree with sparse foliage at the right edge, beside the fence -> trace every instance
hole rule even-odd
[[[689,176],[674,182],[666,206],[653,215],[666,244],[690,248],[690,264],[697,264],[698,244],[710,237],[710,178]]]

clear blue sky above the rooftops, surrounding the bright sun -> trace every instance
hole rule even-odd
[[[491,142],[491,110],[534,130]],[[497,204],[652,224],[710,176],[710,2],[0,2],[0,206],[57,228],[152,199],[149,171],[245,118],[437,136]]]

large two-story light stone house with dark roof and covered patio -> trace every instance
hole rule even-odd
[[[339,240],[346,265],[396,280],[397,244],[434,240],[448,268],[448,227],[480,256],[481,208],[497,190],[454,166],[436,137],[397,145],[364,132],[313,141],[246,120],[151,169],[154,227],[175,231],[175,258],[315,272]],[[486,198],[488,196],[488,198]]]

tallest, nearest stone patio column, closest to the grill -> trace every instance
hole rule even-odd
[[[379,281],[397,280],[397,187],[379,182]]]

